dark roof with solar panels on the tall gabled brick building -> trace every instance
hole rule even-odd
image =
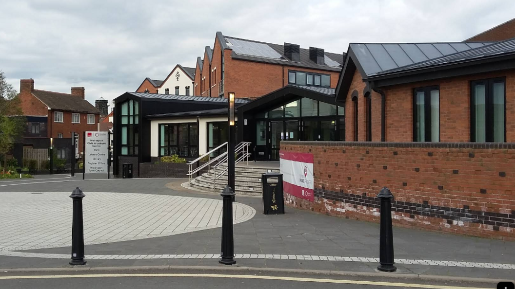
[[[300,48],[300,61],[291,61],[284,56],[284,45],[260,42],[242,38],[224,36],[224,40],[231,43],[232,58],[252,60],[273,64],[287,64],[290,66],[340,71],[344,63],[344,53],[324,52],[324,65],[319,65],[310,59],[310,49]],[[244,47],[249,45],[250,48]],[[234,49],[233,49],[234,48]],[[338,64],[338,66],[336,66]]]

